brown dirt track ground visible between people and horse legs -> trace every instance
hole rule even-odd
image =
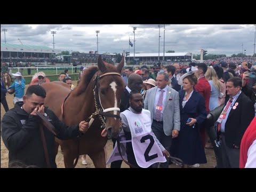
[[[73,84],[76,86],[76,81],[73,81]],[[26,85],[26,90],[27,90],[27,85]],[[25,92],[26,92],[25,90]],[[6,100],[9,106],[9,109],[13,108],[13,95],[10,94],[6,94]],[[1,104],[1,119],[4,116],[5,111],[3,108],[3,105]],[[111,140],[108,140],[107,142],[107,153],[108,156],[111,154],[111,151],[113,149],[113,142]],[[1,168],[3,167],[8,167],[8,153],[9,151],[6,149],[3,141],[2,141],[2,137],[1,137]],[[204,167],[204,168],[213,168],[215,166],[215,157],[214,157],[214,152],[213,149],[205,149],[205,153],[206,153],[206,158],[207,158],[207,162],[206,164],[202,164],[200,167]],[[93,168],[94,165],[90,159],[89,156],[86,156],[86,161],[88,163],[88,165],[82,165],[81,164],[81,158],[79,158],[79,161],[76,165],[76,168]],[[57,154],[56,157],[56,163],[57,163],[57,167],[58,168],[63,168],[64,163],[63,163],[63,155],[60,153],[60,148],[59,148],[59,152]],[[108,165],[110,167],[110,165]],[[124,162],[122,164],[122,168],[127,168],[129,166],[127,166]],[[169,167],[171,168],[178,168],[177,165],[170,165]]]

